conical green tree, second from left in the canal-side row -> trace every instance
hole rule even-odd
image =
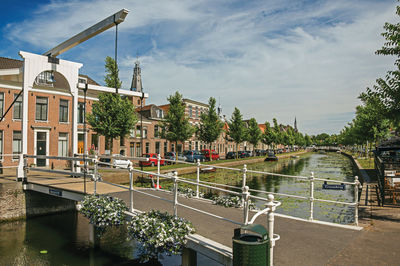
[[[178,147],[178,141],[184,142],[192,137],[194,128],[189,123],[189,118],[185,117],[185,103],[182,95],[175,92],[168,97],[169,110],[161,123],[163,138],[175,142]],[[177,153],[175,153],[177,156]],[[177,159],[177,158],[176,158]]]

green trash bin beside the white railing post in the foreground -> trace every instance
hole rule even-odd
[[[255,234],[245,233],[242,230]],[[265,266],[269,264],[269,237],[267,229],[260,224],[236,228],[233,242],[233,266]]]

